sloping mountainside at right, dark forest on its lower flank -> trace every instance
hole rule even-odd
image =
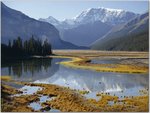
[[[97,50],[148,51],[149,14],[139,15],[122,26],[115,26],[105,36],[91,44]]]

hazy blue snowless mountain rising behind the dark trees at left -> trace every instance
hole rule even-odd
[[[45,40],[46,38],[53,49],[79,49],[69,42],[60,39],[59,31],[50,23],[41,22],[28,17],[20,11],[7,7],[1,2],[1,43],[8,44],[8,41],[20,36],[23,41],[28,40],[32,35],[35,38]]]

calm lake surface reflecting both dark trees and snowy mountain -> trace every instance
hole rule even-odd
[[[120,95],[138,95],[138,90],[148,88],[148,74],[104,73],[59,65],[66,59],[30,59],[2,65],[1,74],[15,80],[58,84],[72,89],[88,90],[87,96],[96,98],[97,92]],[[105,61],[103,61],[105,62]],[[106,62],[108,63],[108,61]]]

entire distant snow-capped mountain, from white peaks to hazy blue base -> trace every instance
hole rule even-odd
[[[124,24],[138,15],[121,9],[101,7],[87,9],[76,17],[64,21],[58,21],[52,16],[39,20],[53,24],[59,30],[62,40],[89,47],[113,26]]]

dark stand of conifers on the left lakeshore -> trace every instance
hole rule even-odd
[[[4,57],[26,57],[32,55],[46,56],[52,54],[51,44],[46,39],[42,42],[33,36],[23,42],[21,37],[9,40],[8,45],[1,44],[2,58]]]

